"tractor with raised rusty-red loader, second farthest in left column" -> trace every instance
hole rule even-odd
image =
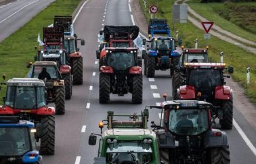
[[[65,99],[72,96],[72,70],[67,65],[66,50],[63,48],[64,31],[62,27],[44,27],[44,50],[38,51],[36,61],[54,61],[65,81]]]

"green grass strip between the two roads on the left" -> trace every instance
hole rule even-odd
[[[56,0],[25,26],[3,40],[0,43],[0,75],[6,74],[7,80],[13,77],[25,77],[29,71],[26,65],[34,59],[38,32],[42,37],[43,27],[53,23],[54,15],[71,15],[79,2],[80,0]],[[5,95],[5,88],[2,85],[0,97]]]

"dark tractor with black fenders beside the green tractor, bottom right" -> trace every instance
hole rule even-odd
[[[218,159],[229,164],[226,133],[212,129],[212,104],[196,100],[172,100],[150,108],[162,110],[160,125],[151,122],[151,127],[157,135],[160,159],[164,163],[215,164],[212,156],[225,150],[224,154],[218,155]]]

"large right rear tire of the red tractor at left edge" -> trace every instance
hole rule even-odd
[[[43,116],[41,121],[41,155],[54,155],[55,147],[55,116]]]

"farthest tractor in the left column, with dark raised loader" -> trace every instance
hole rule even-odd
[[[78,40],[84,46],[84,40],[78,39],[74,34],[74,27],[72,24],[72,16],[54,16],[54,27],[64,28],[64,49],[66,50],[67,64],[71,66],[73,75],[73,84],[82,85],[83,83],[83,56],[79,52]]]

